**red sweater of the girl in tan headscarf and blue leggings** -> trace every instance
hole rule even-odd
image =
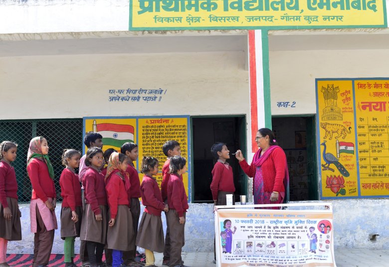
[[[115,219],[119,205],[129,206],[126,185],[118,172],[110,174],[107,181],[105,189],[107,190],[109,212],[111,219]]]

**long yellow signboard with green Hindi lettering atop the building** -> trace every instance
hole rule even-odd
[[[130,0],[130,30],[386,27],[385,0]]]

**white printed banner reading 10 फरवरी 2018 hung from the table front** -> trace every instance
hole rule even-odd
[[[329,210],[257,206],[216,207],[235,207],[215,212],[218,267],[336,267],[331,204]]]

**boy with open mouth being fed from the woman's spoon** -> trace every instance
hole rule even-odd
[[[235,192],[232,167],[227,162],[229,150],[226,144],[215,143],[211,147],[211,153],[214,160],[216,160],[212,170],[212,183],[210,185],[213,204],[215,206],[227,205],[226,195]],[[232,198],[232,204],[235,205],[234,198]]]

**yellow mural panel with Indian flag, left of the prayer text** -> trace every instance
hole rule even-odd
[[[137,121],[135,118],[85,119],[84,129],[85,133],[94,131],[103,136],[104,151],[108,148],[120,151],[120,147],[126,142],[137,143]]]

